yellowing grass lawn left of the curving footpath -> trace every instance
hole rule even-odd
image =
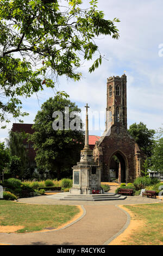
[[[0,225],[24,226],[17,233],[54,229],[70,221],[78,213],[79,208],[75,205],[21,204],[0,200]]]

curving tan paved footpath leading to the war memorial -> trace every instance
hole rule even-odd
[[[26,234],[0,233],[0,243],[14,245],[104,245],[126,226],[128,216],[116,205],[162,203],[161,200],[127,197],[125,200],[77,202],[54,200],[53,196],[21,198],[22,203],[83,205],[86,214],[65,229]],[[107,244],[107,243],[106,243]]]

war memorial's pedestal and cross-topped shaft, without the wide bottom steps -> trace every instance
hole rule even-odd
[[[80,153],[80,162],[73,166],[73,187],[71,194],[103,193],[101,187],[101,168],[93,161],[92,150],[89,148],[88,114],[86,104],[85,146]]]

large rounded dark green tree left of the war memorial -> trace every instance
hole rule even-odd
[[[34,120],[34,133],[29,135],[29,141],[34,143],[36,150],[37,169],[49,170],[51,174],[60,179],[61,172],[71,170],[72,166],[79,161],[80,150],[84,147],[84,132],[82,130],[65,130],[65,107],[69,107],[70,117],[72,111],[80,112],[78,106],[67,99],[56,97],[49,98],[41,106]],[[53,112],[60,111],[63,114],[63,129],[54,130]],[[57,117],[57,115],[55,116]],[[68,124],[73,121],[70,118]],[[80,124],[82,121],[80,120]]]

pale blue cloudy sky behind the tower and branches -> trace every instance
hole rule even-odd
[[[86,1],[83,1],[86,7]],[[120,39],[101,36],[96,40],[101,55],[105,57],[102,65],[91,74],[92,62],[85,62],[80,68],[83,78],[79,82],[59,79],[57,90],[64,90],[70,100],[84,109],[90,106],[90,135],[101,136],[105,129],[106,81],[110,76],[127,76],[127,118],[128,127],[143,122],[148,129],[158,129],[163,125],[163,2],[161,0],[99,0],[98,10],[102,10],[105,19],[115,17],[120,31]],[[98,57],[98,54],[95,56]],[[52,89],[46,89],[28,99],[22,99],[23,111],[29,113],[24,123],[33,123],[40,106],[49,97],[54,96]],[[91,113],[101,114],[100,126],[92,126]],[[96,117],[97,117],[96,115]],[[85,119],[85,118],[84,118]],[[12,123],[7,129],[0,130],[0,141],[8,137]]]

